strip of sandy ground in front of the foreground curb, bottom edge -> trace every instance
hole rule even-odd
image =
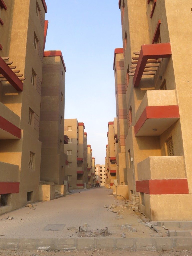
[[[0,256],[192,256],[192,251],[175,250],[175,251],[110,251],[110,250],[94,250],[94,251],[0,251]]]

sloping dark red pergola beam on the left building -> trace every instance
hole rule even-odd
[[[5,63],[5,61],[0,57],[0,73],[7,79],[7,81],[18,91],[23,91],[23,83],[16,76],[12,69]]]

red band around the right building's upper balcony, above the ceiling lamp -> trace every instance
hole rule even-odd
[[[180,118],[179,106],[147,106],[134,126],[135,136],[147,119]]]

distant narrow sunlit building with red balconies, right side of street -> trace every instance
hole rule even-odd
[[[116,143],[117,143],[117,119],[114,118],[113,122],[108,123],[108,144],[106,145],[106,166],[107,170],[107,179],[106,187],[113,188],[114,180],[116,180]]]

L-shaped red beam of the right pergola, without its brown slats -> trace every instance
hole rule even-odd
[[[169,58],[171,55],[170,43],[142,45],[133,77],[134,87],[139,87],[148,59]]]

